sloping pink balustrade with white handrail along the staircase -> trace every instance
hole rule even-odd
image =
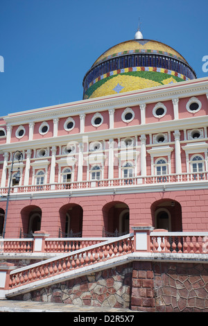
[[[101,261],[126,255],[134,251],[133,234],[108,240],[60,255],[58,258],[47,259],[44,262],[17,269],[10,273],[9,289],[26,285],[31,282],[44,280],[48,277],[73,271],[74,269],[99,264]]]

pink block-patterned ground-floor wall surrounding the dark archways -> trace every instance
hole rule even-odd
[[[121,202],[130,209],[131,227],[137,223],[155,225],[151,207],[157,200],[176,200],[182,208],[182,230],[204,231],[208,228],[208,190],[163,191],[157,193],[123,194],[106,196],[85,196],[79,198],[53,198],[38,200],[12,200],[6,225],[6,237],[19,237],[22,228],[21,209],[35,205],[42,209],[41,229],[51,237],[58,237],[60,228],[60,208],[66,204],[76,204],[83,208],[83,237],[101,237],[103,230],[103,207],[107,203]],[[1,202],[6,209],[6,201]],[[177,216],[176,216],[177,218]]]

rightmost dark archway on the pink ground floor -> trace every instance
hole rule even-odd
[[[182,208],[176,200],[157,200],[151,206],[151,212],[156,229],[182,232]]]

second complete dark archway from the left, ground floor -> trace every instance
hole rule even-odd
[[[82,237],[83,207],[77,204],[67,204],[60,207],[59,237]]]

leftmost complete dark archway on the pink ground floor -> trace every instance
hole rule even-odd
[[[40,231],[42,210],[35,205],[29,205],[21,209],[22,228],[21,237],[28,237],[35,231]]]

